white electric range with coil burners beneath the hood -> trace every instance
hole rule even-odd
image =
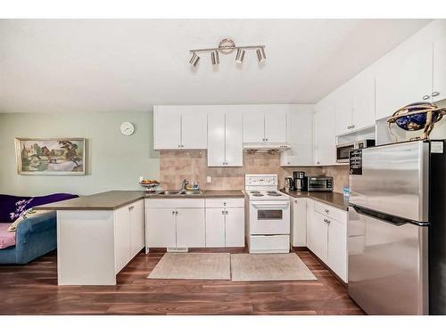
[[[250,253],[290,251],[290,198],[277,184],[276,174],[244,175]]]

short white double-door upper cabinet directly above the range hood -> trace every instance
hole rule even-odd
[[[241,106],[244,143],[285,143],[289,105]]]

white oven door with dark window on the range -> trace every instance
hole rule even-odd
[[[290,233],[290,201],[258,200],[250,202],[250,234]]]

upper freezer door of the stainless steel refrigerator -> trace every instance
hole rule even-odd
[[[350,175],[350,202],[416,222],[428,221],[429,143],[362,151],[362,174]]]

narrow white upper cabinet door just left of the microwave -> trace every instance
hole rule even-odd
[[[315,115],[316,164],[334,165],[336,162],[335,110],[333,102],[323,101]]]

